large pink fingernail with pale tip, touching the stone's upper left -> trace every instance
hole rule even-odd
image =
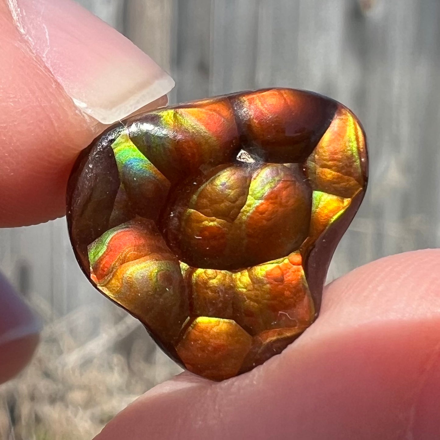
[[[16,26],[73,102],[103,124],[167,94],[174,81],[72,0],[7,0]]]

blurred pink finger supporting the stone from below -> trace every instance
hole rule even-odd
[[[350,272],[280,355],[220,383],[185,374],[159,385],[96,438],[436,438],[439,264],[427,249]]]

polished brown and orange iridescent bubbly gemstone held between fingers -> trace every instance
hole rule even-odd
[[[313,323],[366,187],[350,110],[267,89],[114,125],[73,167],[67,220],[92,284],[180,365],[222,380]]]

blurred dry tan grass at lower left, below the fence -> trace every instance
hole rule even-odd
[[[81,307],[45,318],[32,363],[0,387],[0,439],[89,440],[114,414],[155,384],[180,372],[122,310]]]

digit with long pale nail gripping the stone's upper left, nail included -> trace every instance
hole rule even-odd
[[[0,2],[0,226],[64,214],[68,173],[105,125],[174,81],[71,0]]]

